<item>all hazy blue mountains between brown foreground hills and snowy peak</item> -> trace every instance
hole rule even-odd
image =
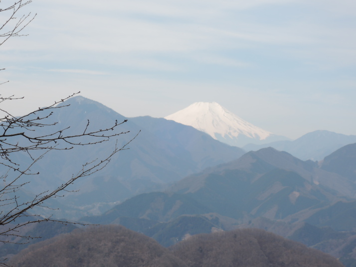
[[[61,208],[55,216],[83,216],[81,222],[92,224],[121,224],[164,246],[200,233],[262,228],[340,258],[346,267],[356,266],[353,135],[316,131],[295,141],[271,143],[275,148],[271,144],[261,149],[260,145],[246,145],[246,149],[256,149],[246,152],[172,120],[125,118],[83,97],[65,104],[70,106],[53,115],[59,124],[51,131],[71,126],[69,132],[78,133],[87,120],[92,129],[128,120],[120,131],[130,133],[120,135],[118,145],[141,133],[128,151],[121,151],[101,172],[70,188],[79,192],[58,202],[52,200],[51,207]],[[262,132],[261,136],[255,133],[246,138],[262,136]],[[31,176],[26,190],[16,194],[28,198],[62,183],[83,163],[110,153],[115,143],[113,139],[102,145],[48,153],[33,168],[40,175]],[[29,162],[28,157],[17,156],[17,162]],[[45,212],[41,210],[41,214]],[[21,235],[27,235],[26,231],[41,235],[42,230],[24,229]],[[47,230],[44,236],[49,237],[51,231]],[[56,226],[53,233],[61,231]],[[17,249],[12,246],[6,253]]]

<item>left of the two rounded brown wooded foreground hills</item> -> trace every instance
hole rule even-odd
[[[13,267],[185,267],[153,239],[122,226],[74,231],[30,246],[11,259]]]

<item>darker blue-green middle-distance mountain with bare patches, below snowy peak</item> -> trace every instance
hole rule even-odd
[[[239,220],[265,217],[304,221],[323,207],[355,199],[355,183],[316,162],[264,148],[178,181],[167,192],[137,195],[90,223],[119,217],[168,222],[181,215],[216,213]]]

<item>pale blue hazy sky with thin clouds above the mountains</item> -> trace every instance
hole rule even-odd
[[[27,12],[29,35],[0,46],[1,94],[25,97],[1,108],[16,115],[81,91],[127,117],[204,101],[290,138],[356,134],[355,0],[33,0]]]

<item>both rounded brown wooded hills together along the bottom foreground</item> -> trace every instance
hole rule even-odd
[[[122,226],[76,230],[32,245],[13,267],[342,267],[333,257],[258,229],[186,237],[170,248]]]

